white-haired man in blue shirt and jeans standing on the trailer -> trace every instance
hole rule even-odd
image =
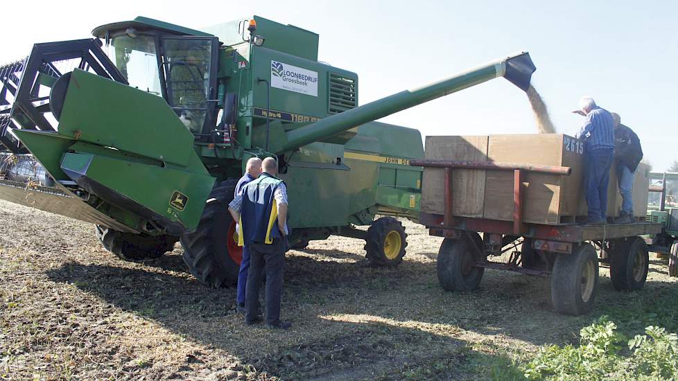
[[[607,222],[607,184],[614,161],[614,121],[612,115],[598,107],[590,96],[584,96],[579,109],[573,111],[586,116],[577,138],[584,140],[584,190],[588,206],[589,224]]]

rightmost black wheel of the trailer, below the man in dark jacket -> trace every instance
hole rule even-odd
[[[633,291],[643,288],[650,264],[650,254],[643,238],[619,240],[610,254],[610,279],[614,289]]]

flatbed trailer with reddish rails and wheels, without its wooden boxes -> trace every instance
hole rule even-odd
[[[485,269],[546,276],[551,278],[555,310],[578,315],[593,308],[600,263],[609,265],[616,290],[638,290],[645,284],[649,256],[641,236],[660,233],[661,224],[639,219],[629,224],[600,225],[582,224],[577,218],[557,223],[525,221],[525,210],[529,209],[524,204],[525,179],[534,179],[537,174],[569,176],[571,168],[440,159],[412,160],[410,165],[422,166],[425,172],[429,168],[444,170],[442,181],[436,183],[440,188],[424,192],[421,201],[424,204],[426,197],[435,197],[442,203],[442,213],[422,209],[420,222],[432,236],[444,238],[437,257],[437,276],[445,290],[476,289]],[[458,199],[464,195],[453,194],[453,188],[459,193],[469,190],[455,184],[453,174],[465,171],[468,175],[469,170],[484,170],[488,177],[490,173],[512,174],[511,220],[455,215],[460,208]],[[502,186],[510,184],[504,182]],[[490,260],[511,250],[515,251],[505,263]]]

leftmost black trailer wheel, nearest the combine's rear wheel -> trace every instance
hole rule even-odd
[[[483,279],[483,267],[473,263],[483,259],[476,247],[483,247],[478,233],[471,233],[458,240],[445,238],[440,245],[437,259],[438,282],[446,291],[476,290]],[[474,247],[475,246],[475,247]]]

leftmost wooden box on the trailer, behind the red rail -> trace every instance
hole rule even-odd
[[[487,161],[487,136],[426,136],[426,159]],[[443,168],[425,168],[421,187],[421,211],[444,211]],[[463,217],[483,217],[485,171],[452,170],[452,211]]]

